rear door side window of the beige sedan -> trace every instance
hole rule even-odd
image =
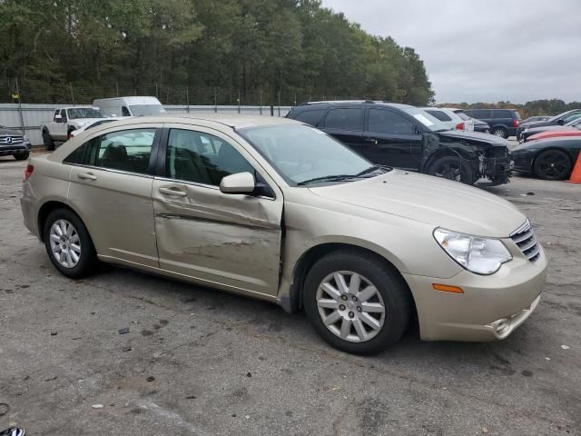
[[[97,136],[77,148],[65,163],[80,163],[128,173],[148,173],[155,129],[133,129]]]

